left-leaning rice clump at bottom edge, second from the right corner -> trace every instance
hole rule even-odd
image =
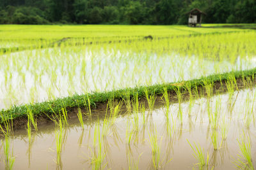
[[[187,141],[188,141],[188,139],[187,139]],[[189,143],[189,141],[188,141],[188,143]],[[207,157],[205,157],[204,148],[201,148],[199,143],[198,143],[198,145],[196,145],[195,142],[194,142],[195,147],[193,147],[191,145],[191,143],[189,143],[189,145],[191,146],[191,148],[194,152],[193,156],[195,157],[195,159],[198,160],[198,163],[196,165],[198,165],[199,169],[204,169],[205,167],[208,167],[209,155],[207,153]]]

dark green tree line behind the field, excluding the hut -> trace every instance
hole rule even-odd
[[[255,23],[255,0],[0,0],[0,24],[187,24],[189,10],[205,23]]]

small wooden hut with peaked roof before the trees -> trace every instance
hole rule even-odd
[[[189,11],[186,13],[189,14],[188,17],[188,25],[190,27],[196,27],[196,24],[199,24],[199,27],[201,27],[202,23],[202,15],[206,15],[203,11],[198,10],[197,8]]]

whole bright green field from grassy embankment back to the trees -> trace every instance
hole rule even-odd
[[[0,29],[0,108],[192,80],[253,69],[256,64],[256,36],[250,29],[178,25],[2,25]],[[144,38],[149,35],[152,40]]]

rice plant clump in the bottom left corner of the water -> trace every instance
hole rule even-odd
[[[10,153],[10,138],[8,135],[4,135],[5,140],[3,143],[3,149],[4,149],[4,163],[5,163],[5,169],[9,170],[13,168],[13,164],[15,162],[15,157],[13,156],[13,148],[12,153]]]

